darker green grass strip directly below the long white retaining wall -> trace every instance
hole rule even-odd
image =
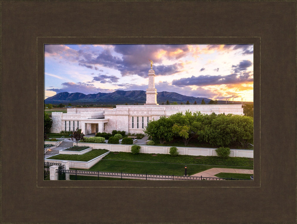
[[[131,152],[119,152],[118,154],[110,152],[108,155],[104,157],[104,160],[245,166],[250,167],[251,169],[253,168],[253,159],[246,157],[228,157],[227,159],[221,159],[218,156],[178,155],[177,157],[172,157],[170,156],[170,154],[139,153],[137,155],[133,155]]]

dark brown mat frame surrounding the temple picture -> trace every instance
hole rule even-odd
[[[45,43],[254,44],[255,180],[44,181]],[[295,1],[1,1],[1,50],[1,222],[296,222]]]

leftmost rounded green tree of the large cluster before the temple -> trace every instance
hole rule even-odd
[[[161,116],[158,120],[153,119],[150,121],[143,132],[153,138],[159,139],[160,144],[163,144],[165,141],[173,140],[172,126],[173,122],[171,119]]]

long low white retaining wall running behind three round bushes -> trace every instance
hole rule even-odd
[[[83,143],[79,142],[78,146],[90,146],[93,149],[107,149],[111,152],[131,152],[133,145],[121,144],[102,144],[102,143]],[[181,155],[193,156],[217,156],[216,149],[213,148],[193,148],[193,147],[176,147]],[[170,146],[148,146],[140,145],[140,153],[169,154]],[[230,149],[230,157],[248,157],[254,158],[254,150],[250,149]]]

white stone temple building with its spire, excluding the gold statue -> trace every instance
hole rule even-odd
[[[157,89],[155,89],[155,71],[149,70],[149,86],[146,89],[146,103],[144,105],[116,105],[116,108],[67,108],[67,113],[52,113],[52,133],[60,131],[74,131],[76,128],[87,135],[96,132],[112,130],[126,131],[126,133],[143,133],[144,127],[152,119],[187,110],[192,113],[200,111],[202,114],[225,113],[244,115],[241,104],[230,105],[159,105],[157,103]]]

